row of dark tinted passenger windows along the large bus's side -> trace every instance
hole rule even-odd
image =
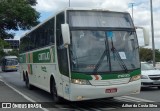
[[[54,44],[54,18],[23,37],[20,44],[21,53]]]

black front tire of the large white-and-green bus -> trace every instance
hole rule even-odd
[[[52,83],[51,83],[51,94],[52,94],[53,101],[55,103],[60,103],[61,102],[61,98],[57,94],[57,88],[56,88],[55,80],[52,80]]]

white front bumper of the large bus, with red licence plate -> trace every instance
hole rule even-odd
[[[140,92],[141,80],[112,86],[78,85],[71,83],[70,101],[82,101],[136,94]],[[114,89],[114,91],[110,91]]]

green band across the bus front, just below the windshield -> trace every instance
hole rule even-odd
[[[134,70],[130,73],[121,73],[121,74],[101,74],[102,77],[101,80],[107,80],[107,79],[120,79],[120,78],[129,78],[136,75],[141,74],[141,70]],[[72,79],[85,79],[85,80],[92,80],[92,75],[87,75],[85,73],[71,73]]]

